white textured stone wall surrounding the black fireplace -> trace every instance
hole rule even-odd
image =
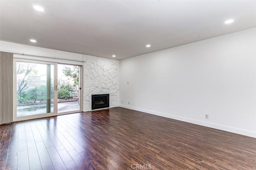
[[[84,111],[92,110],[92,95],[109,94],[110,107],[119,105],[119,60],[84,55]]]

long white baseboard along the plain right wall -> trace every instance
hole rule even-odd
[[[218,130],[224,130],[226,132],[232,132],[232,133],[242,134],[244,136],[250,136],[250,137],[256,138],[256,132],[249,131],[249,130],[234,128],[234,127],[228,127],[228,126],[218,125],[218,124],[215,124],[215,123],[208,123],[208,122],[204,122],[204,121],[198,121],[198,120],[195,120],[195,119],[170,115],[170,114],[167,114],[167,113],[161,113],[161,112],[156,112],[156,111],[150,111],[150,110],[147,110],[147,109],[141,109],[141,108],[127,106],[127,105],[120,105],[119,104],[119,107],[123,107],[123,108],[126,108],[126,109],[145,112],[145,113],[149,113],[149,114],[152,114],[152,115],[158,115],[158,116],[167,117],[167,118],[170,118],[170,119],[175,119],[175,120],[178,120],[178,121],[193,123],[193,124],[201,125],[201,126],[204,126],[204,127],[215,128],[215,129],[218,129]]]

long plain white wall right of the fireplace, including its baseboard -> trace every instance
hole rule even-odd
[[[256,137],[255,69],[256,28],[124,59],[120,106]]]

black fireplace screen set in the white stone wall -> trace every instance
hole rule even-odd
[[[92,95],[92,110],[109,107],[109,94]]]

